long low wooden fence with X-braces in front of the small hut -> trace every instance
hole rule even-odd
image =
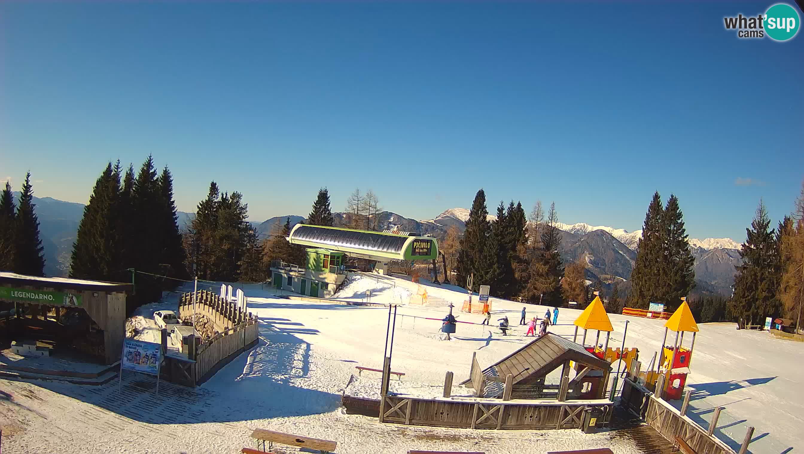
[[[585,407],[601,407],[604,414],[602,425],[611,418],[613,407],[610,402],[513,403],[500,399],[455,401],[398,396],[385,396],[384,399],[384,413],[379,415],[381,423],[471,429],[580,428]]]

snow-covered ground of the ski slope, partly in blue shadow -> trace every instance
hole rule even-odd
[[[432,305],[407,304],[406,296],[422,288],[388,277],[361,277],[338,295],[363,301],[371,291],[372,303],[403,303],[396,321],[393,369],[405,373],[408,387],[419,383],[422,394],[433,392],[428,385],[441,385],[447,370],[454,372],[455,383],[465,379],[473,353],[481,366],[487,366],[530,340],[523,337],[525,327],[517,325],[523,305],[492,298],[493,322],[507,315],[513,335],[503,337],[494,328],[459,323],[453,340],[441,341],[441,322],[428,319],[444,317],[449,303],[456,306],[458,321],[479,323],[482,317],[460,313],[466,298],[460,288],[425,284],[424,289]],[[253,446],[248,434],[256,427],[336,440],[337,452],[350,454],[408,449],[497,454],[603,447],[618,454],[642,452],[616,432],[471,431],[384,425],[365,416],[345,415],[340,398],[351,374],[357,374],[355,366],[382,366],[388,309],[282,299],[259,285],[245,286],[244,291],[248,309],[260,317],[260,342],[195,390],[164,386],[156,397],[150,378],[137,374],[126,376],[122,393],[117,382],[80,387],[0,379],[0,389],[11,396],[0,400],[4,452],[234,453]],[[170,295],[142,308],[139,315],[175,309],[177,301],[178,295]],[[548,309],[526,307],[527,317],[544,316]],[[560,325],[551,331],[570,336],[569,324],[579,313],[561,309]],[[643,364],[650,362],[662,340],[662,322],[610,317],[615,331],[609,346],[621,345],[628,320],[626,347],[638,347]],[[712,408],[724,407],[722,436],[732,447],[739,446],[745,427],[756,427],[749,448],[755,454],[797,452],[804,447],[804,366],[800,359],[794,360],[802,358],[802,346],[763,333],[736,331],[732,324],[699,327],[687,381],[693,392],[688,415],[706,427]],[[362,376],[372,378],[371,374]]]

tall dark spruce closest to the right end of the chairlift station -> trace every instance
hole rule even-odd
[[[491,235],[488,215],[486,192],[481,189],[474,196],[469,219],[466,219],[466,231],[461,238],[461,250],[457,255],[457,284],[466,285],[469,276],[474,274],[474,284],[471,290],[475,292],[480,288],[481,280],[485,276],[495,274],[494,270],[489,270],[492,265],[496,264],[496,260],[491,264],[484,262],[484,260],[490,260],[490,257],[496,256],[497,253],[496,248],[492,253],[490,248],[486,247]],[[486,282],[482,282],[482,284],[486,284]]]

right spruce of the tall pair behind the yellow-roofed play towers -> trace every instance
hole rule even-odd
[[[681,298],[687,297],[695,288],[695,259],[690,251],[687,231],[684,228],[683,214],[679,207],[679,199],[674,194],[667,199],[667,206],[662,212],[665,229],[665,244],[662,258],[665,270],[663,289],[664,301],[672,310],[681,304]]]

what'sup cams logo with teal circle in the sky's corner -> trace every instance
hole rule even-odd
[[[768,8],[765,14],[723,18],[726,30],[736,30],[737,38],[765,38],[774,41],[792,39],[801,28],[798,11],[786,3],[777,3]]]

